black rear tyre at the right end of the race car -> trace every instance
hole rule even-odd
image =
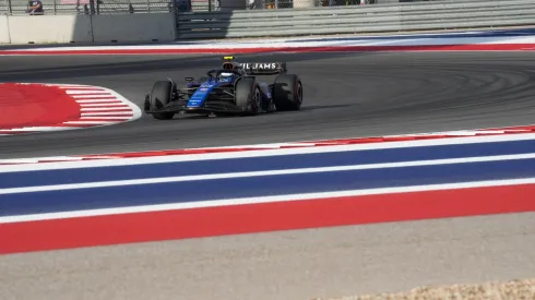
[[[273,84],[273,101],[276,109],[299,110],[302,104],[302,83],[294,74],[281,74]]]

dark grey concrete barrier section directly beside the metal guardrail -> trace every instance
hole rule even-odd
[[[95,43],[170,41],[176,37],[173,13],[93,15]]]

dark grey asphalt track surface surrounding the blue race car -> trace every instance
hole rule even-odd
[[[108,128],[2,136],[0,158],[294,142],[532,123],[530,53],[309,53],[288,61],[305,84],[301,111],[254,118],[144,117]],[[156,80],[204,75],[221,57],[1,57],[0,82],[83,83],[140,105]],[[266,77],[271,81],[272,77]]]

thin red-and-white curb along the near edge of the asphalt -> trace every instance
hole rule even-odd
[[[240,146],[228,146],[228,147],[181,148],[181,149],[131,152],[131,153],[0,159],[0,166],[121,159],[121,158],[142,158],[142,157],[175,156],[175,155],[236,153],[236,152],[251,152],[251,151],[274,151],[274,149],[276,151],[276,149],[288,149],[288,148],[342,146],[342,145],[373,144],[373,143],[389,143],[389,142],[411,142],[411,141],[423,141],[423,140],[510,135],[510,134],[526,134],[526,133],[535,133],[535,125],[511,127],[511,128],[501,128],[501,129],[500,128],[474,129],[474,130],[463,130],[463,131],[369,136],[369,137],[354,137],[354,139],[338,139],[338,140],[319,140],[319,141],[295,142],[295,143],[272,143],[272,144],[263,144],[263,145],[259,144],[259,145],[240,145]]]

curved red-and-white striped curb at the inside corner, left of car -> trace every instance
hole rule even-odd
[[[136,105],[109,88],[73,84],[21,84],[28,85],[28,88],[32,88],[32,85],[41,85],[63,89],[67,95],[80,105],[80,116],[78,119],[49,124],[47,127],[2,128],[0,129],[0,135],[19,135],[112,125],[133,121],[141,117],[141,109]]]

